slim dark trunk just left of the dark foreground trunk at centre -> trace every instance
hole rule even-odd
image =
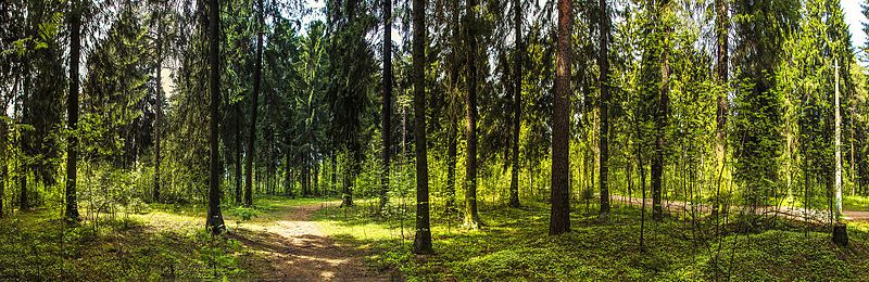
[[[383,101],[382,101],[383,170],[380,175],[380,208],[387,207],[389,193],[389,162],[392,150],[392,0],[383,0]]]

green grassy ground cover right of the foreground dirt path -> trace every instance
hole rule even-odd
[[[608,221],[578,214],[572,231],[559,236],[547,235],[549,209],[539,204],[482,210],[482,230],[436,217],[430,256],[411,254],[413,231],[402,240],[399,220],[373,219],[364,207],[324,209],[316,217],[333,236],[373,245],[373,266],[399,269],[410,280],[860,280],[869,272],[869,227],[861,223],[851,226],[852,244],[841,248],[829,233],[788,222],[718,241],[703,239],[713,232],[703,229],[708,226],[692,232],[691,225],[667,218],[646,222],[641,252],[638,208],[618,208]],[[412,220],[411,214],[404,227]]]

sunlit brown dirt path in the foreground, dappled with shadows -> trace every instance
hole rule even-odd
[[[390,281],[400,280],[394,273],[378,273],[364,264],[367,251],[339,244],[325,234],[314,211],[317,203],[282,207],[274,221],[242,225],[232,238],[260,253],[265,261],[250,261],[257,279],[290,281]],[[269,216],[272,218],[273,216]]]

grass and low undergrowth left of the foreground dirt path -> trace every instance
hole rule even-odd
[[[251,208],[224,206],[227,228],[274,220],[284,207],[323,202],[262,196]],[[204,229],[202,204],[152,204],[138,214],[67,227],[56,210],[0,219],[0,280],[251,279],[264,259]],[[249,268],[251,267],[251,268]]]

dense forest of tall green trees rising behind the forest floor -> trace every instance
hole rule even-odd
[[[416,219],[427,254],[430,218],[484,228],[487,206],[551,203],[550,234],[616,202],[643,221],[682,206],[709,238],[867,210],[869,42],[839,0],[8,0],[0,17],[0,217],[206,204],[219,233],[259,197],[340,196]]]

